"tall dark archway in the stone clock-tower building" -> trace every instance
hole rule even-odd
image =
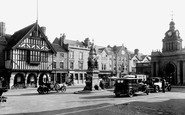
[[[165,68],[166,73],[166,80],[170,83],[175,85],[177,82],[177,75],[176,75],[176,66],[173,63],[168,63]]]

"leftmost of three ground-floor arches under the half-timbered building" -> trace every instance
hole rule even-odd
[[[14,87],[16,87],[16,88],[24,88],[25,87],[25,78],[24,78],[23,74],[18,73],[15,75]]]

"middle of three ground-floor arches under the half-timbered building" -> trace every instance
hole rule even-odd
[[[37,87],[37,77],[35,74],[29,74],[27,78],[27,85],[28,87]]]

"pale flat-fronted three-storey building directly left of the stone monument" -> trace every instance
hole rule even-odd
[[[62,34],[60,38],[56,38],[53,41],[54,44],[58,44],[68,51],[67,55],[67,81],[71,81],[72,84],[82,85],[85,84],[86,72],[87,72],[87,60],[90,51],[90,40],[86,38],[83,42],[68,40],[65,34]]]

